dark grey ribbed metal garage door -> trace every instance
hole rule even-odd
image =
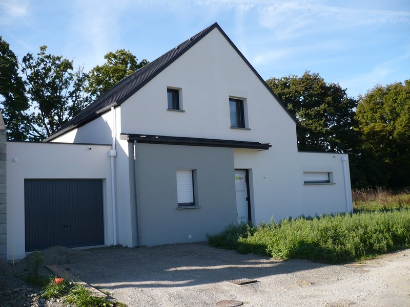
[[[25,180],[26,251],[104,244],[101,180]]]

